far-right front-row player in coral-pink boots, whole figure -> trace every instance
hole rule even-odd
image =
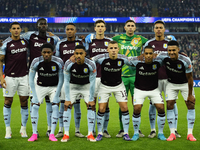
[[[185,100],[188,108],[187,122],[188,133],[187,140],[196,141],[193,136],[193,127],[195,122],[195,98],[193,91],[193,77],[192,77],[192,64],[189,57],[179,54],[179,44],[177,41],[169,41],[168,54],[164,53],[160,55],[163,57],[164,65],[166,66],[166,72],[168,76],[168,82],[166,86],[166,101],[167,101],[167,121],[170,128],[170,136],[167,141],[176,139],[175,136],[175,114],[174,103],[178,96],[179,91]]]

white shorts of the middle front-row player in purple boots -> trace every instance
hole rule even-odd
[[[117,86],[106,86],[101,83],[98,93],[98,103],[107,103],[112,93],[116,98],[116,102],[128,102],[126,88],[122,82]]]

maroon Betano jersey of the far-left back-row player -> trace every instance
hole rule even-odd
[[[23,38],[12,40],[8,37],[3,41],[0,54],[5,55],[4,73],[6,76],[22,77],[28,74],[27,52],[28,42]]]

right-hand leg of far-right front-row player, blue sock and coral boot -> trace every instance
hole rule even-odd
[[[183,88],[183,86],[182,86]],[[190,141],[196,141],[196,138],[193,136],[193,128],[194,128],[194,122],[195,122],[195,102],[187,100],[188,97],[188,85],[185,85],[185,88],[181,89],[181,94],[185,100],[186,106],[188,108],[187,112],[187,122],[188,122],[188,133],[187,133],[187,140]],[[193,96],[194,89],[193,89]]]

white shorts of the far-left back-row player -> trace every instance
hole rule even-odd
[[[3,88],[4,97],[13,97],[17,91],[19,96],[29,96],[28,75],[23,77],[5,77],[6,89]]]

